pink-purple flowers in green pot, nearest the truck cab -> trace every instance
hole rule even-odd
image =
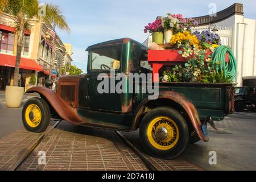
[[[144,32],[152,33],[153,42],[155,42],[156,44],[163,44],[164,35],[161,19],[156,19],[155,22],[148,23],[148,25],[144,28]]]

